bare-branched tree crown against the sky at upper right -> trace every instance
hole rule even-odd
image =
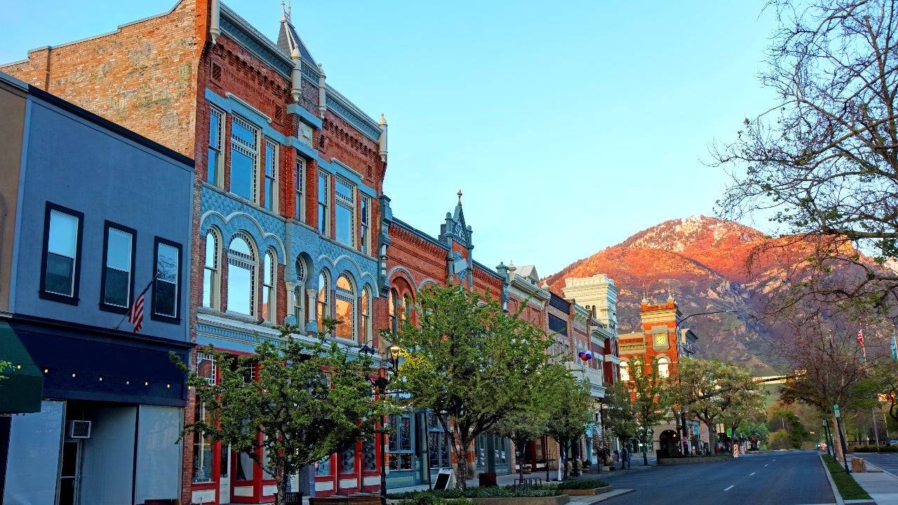
[[[830,300],[876,306],[890,294],[894,303],[898,276],[858,250],[880,262],[898,256],[898,6],[769,5],[779,30],[761,81],[779,104],[744,120],[734,142],[712,147],[714,164],[733,179],[719,213],[738,219],[771,212],[771,221],[810,246],[802,261],[814,272],[859,270],[850,286],[814,288]]]

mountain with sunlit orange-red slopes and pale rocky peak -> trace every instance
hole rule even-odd
[[[736,309],[738,313],[701,315],[684,326],[699,336],[699,355],[743,364],[756,375],[773,375],[785,363],[770,352],[774,328],[749,315],[760,311],[763,293],[782,279],[782,259],[762,255],[746,268],[759,246],[776,242],[749,226],[715,217],[672,219],[576,261],[546,279],[562,294],[564,279],[598,273],[614,279],[618,331],[640,330],[642,298],[666,300],[673,293],[683,315]],[[788,256],[802,253],[787,247]]]

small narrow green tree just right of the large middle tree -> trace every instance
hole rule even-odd
[[[561,462],[564,468],[562,478],[568,478],[568,447],[573,440],[583,436],[586,424],[592,421],[590,404],[593,396],[589,385],[577,382],[566,368],[561,365],[550,365],[555,373],[551,374],[553,401],[550,403],[548,433],[559,443]]]

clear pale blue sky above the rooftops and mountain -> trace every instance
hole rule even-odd
[[[174,4],[0,0],[0,62]],[[277,39],[279,0],[225,4]],[[292,19],[328,83],[386,115],[394,215],[437,235],[461,189],[474,259],[546,276],[667,219],[713,215],[726,177],[701,163],[709,144],[773,104],[756,78],[773,29],[762,6],[301,1]]]

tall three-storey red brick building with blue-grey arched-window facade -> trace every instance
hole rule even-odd
[[[374,341],[376,315],[386,314],[378,253],[386,122],[327,84],[288,11],[272,28],[278,21],[273,42],[218,0],[181,0],[0,69],[196,160],[189,254],[197,260],[184,297],[191,341],[251,353],[257,335],[277,334],[274,324],[313,334],[330,315],[344,322],[332,338],[354,352]],[[190,357],[197,366],[207,359]],[[201,415],[189,398],[185,421]],[[348,447],[294,489],[374,491],[382,448]],[[259,503],[275,492],[248,456],[201,437],[183,447],[181,480],[184,503]]]

